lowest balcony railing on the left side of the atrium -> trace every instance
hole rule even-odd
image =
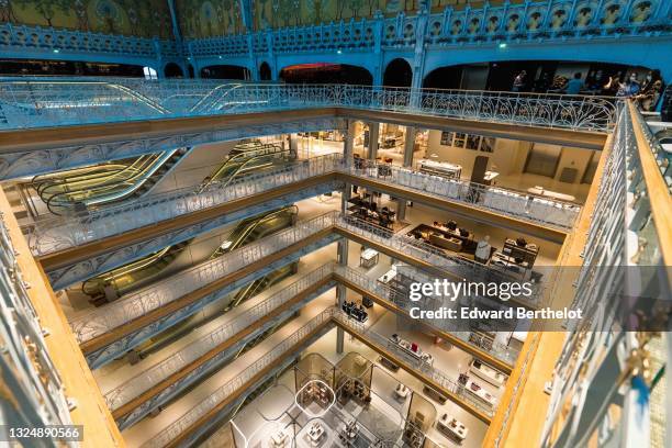
[[[180,437],[183,433],[192,430],[199,419],[212,412],[220,403],[251,382],[255,377],[266,371],[270,366],[288,356],[292,347],[302,344],[321,327],[328,325],[333,315],[334,309],[327,309],[317,314],[307,324],[284,338],[280,344],[276,345],[254,363],[240,371],[231,381],[213,391],[205,400],[187,411],[173,423],[163,428],[156,436],[144,443],[142,447],[161,448],[167,446],[171,440]]]

